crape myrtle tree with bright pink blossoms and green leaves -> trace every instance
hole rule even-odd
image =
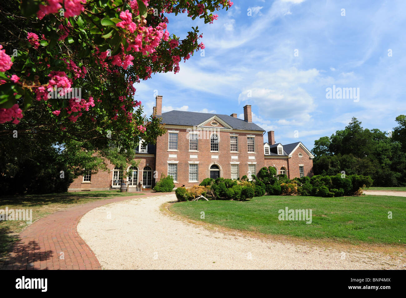
[[[212,23],[216,11],[232,4],[226,0],[3,1],[2,142],[13,141],[14,134],[25,138],[29,150],[32,142],[46,138],[61,152],[84,150],[88,157],[73,167],[93,163],[93,169],[95,152],[113,157],[131,153],[140,139],[155,142],[163,127],[155,115],[144,114],[134,85],[153,73],[177,73],[182,60],[205,48],[197,26],[181,38],[168,31],[167,16],[183,13]]]

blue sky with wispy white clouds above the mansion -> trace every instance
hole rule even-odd
[[[164,112],[244,118],[243,106],[250,104],[253,122],[274,130],[276,142],[302,141],[309,149],[353,116],[364,127],[388,131],[406,113],[406,1],[233,2],[217,12],[214,24],[169,17],[169,32],[181,38],[199,26],[204,56],[181,62],[177,74],[136,84],[145,112],[155,105],[155,90]],[[333,85],[359,88],[359,101],[327,99]]]

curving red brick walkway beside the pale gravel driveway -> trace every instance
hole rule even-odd
[[[80,218],[93,208],[128,199],[150,197],[146,193],[102,199],[52,213],[29,225],[18,240],[3,269],[102,269],[91,248],[76,229]]]

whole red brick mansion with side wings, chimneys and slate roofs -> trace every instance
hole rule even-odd
[[[274,131],[252,122],[251,105],[244,106],[244,120],[231,115],[169,111],[162,113],[162,96],[156,96],[155,114],[166,132],[156,144],[140,142],[134,159],[138,167],[123,170],[109,164],[109,172],[79,176],[68,191],[118,189],[125,182],[128,191],[152,188],[161,174],[171,175],[175,187],[199,185],[205,178],[238,179],[257,174],[262,167],[274,167],[288,178],[312,176],[313,155],[298,141],[275,143]]]

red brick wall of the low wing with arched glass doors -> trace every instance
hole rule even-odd
[[[155,156],[142,156],[137,154],[134,159],[140,161],[138,165],[138,181],[142,180],[142,169],[149,164],[152,171],[155,170]],[[130,165],[127,165],[127,168]],[[108,171],[99,170],[96,174],[92,174],[91,182],[82,182],[83,176],[79,176],[74,179],[71,185],[69,186],[68,191],[81,191],[81,190],[108,190],[111,187],[111,182],[113,178],[113,169],[114,165],[108,163]],[[152,173],[153,175],[154,173]],[[127,180],[127,177],[123,177]],[[153,180],[153,179],[152,179]]]

